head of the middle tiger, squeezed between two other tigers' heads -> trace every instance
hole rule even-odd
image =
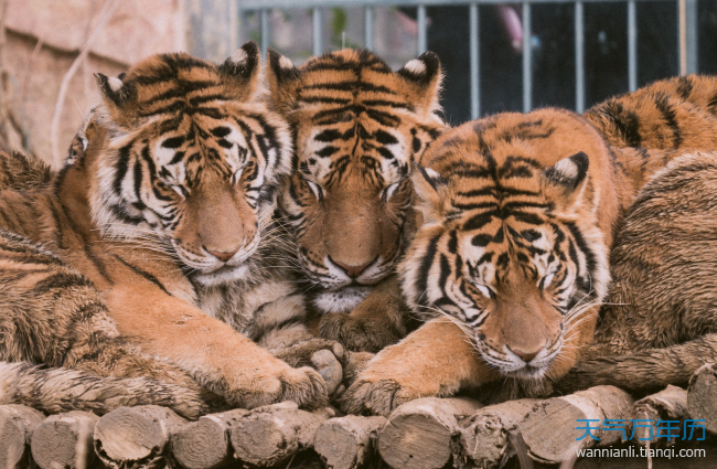
[[[351,311],[393,271],[411,224],[411,162],[445,125],[441,72],[427,52],[398,72],[368,51],[343,50],[295,67],[269,51],[276,110],[295,137],[293,175],[279,205],[314,307]]]

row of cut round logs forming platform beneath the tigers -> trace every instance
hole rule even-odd
[[[630,418],[705,419],[706,439],[697,440],[699,431],[691,440],[675,438],[675,456],[653,457],[650,463],[654,469],[715,468],[717,435],[711,428],[717,422],[708,397],[717,391],[705,391],[715,374],[713,369],[699,373],[688,390],[671,386],[638,402],[616,387],[597,386],[486,407],[463,397],[421,398],[388,418],[341,416],[332,407],[309,413],[293,403],[212,414],[196,422],[158,406],[121,407],[98,417],[84,412],[45,416],[30,407],[3,405],[0,468],[648,468],[640,451],[662,448],[666,440],[638,440],[635,434],[629,441],[631,428],[625,427],[628,441],[621,431],[604,428],[592,433],[600,441],[577,441],[576,435],[584,433],[576,429],[584,425],[577,419]],[[600,448],[613,452],[575,456],[577,449]],[[678,457],[681,449],[704,450],[706,456]]]

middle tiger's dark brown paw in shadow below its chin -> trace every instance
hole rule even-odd
[[[378,352],[398,342],[400,337],[383,321],[355,318],[343,312],[331,312],[321,319],[320,334],[335,340],[354,352]]]

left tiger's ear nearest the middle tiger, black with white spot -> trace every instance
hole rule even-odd
[[[256,41],[249,41],[232,54],[222,65],[224,86],[239,100],[248,100],[259,82],[261,57]]]

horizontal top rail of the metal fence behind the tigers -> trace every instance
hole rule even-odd
[[[533,4],[545,3],[575,3],[576,0],[524,0]],[[623,2],[625,0],[582,0],[585,3],[604,3]],[[636,0],[636,1],[672,1],[675,0]],[[379,7],[434,7],[434,6],[468,6],[470,3],[479,4],[500,4],[506,3],[506,0],[242,0],[243,10],[260,10],[263,8],[281,8],[281,9],[303,9],[303,8],[329,8],[329,7],[357,7],[357,6],[379,6]]]

